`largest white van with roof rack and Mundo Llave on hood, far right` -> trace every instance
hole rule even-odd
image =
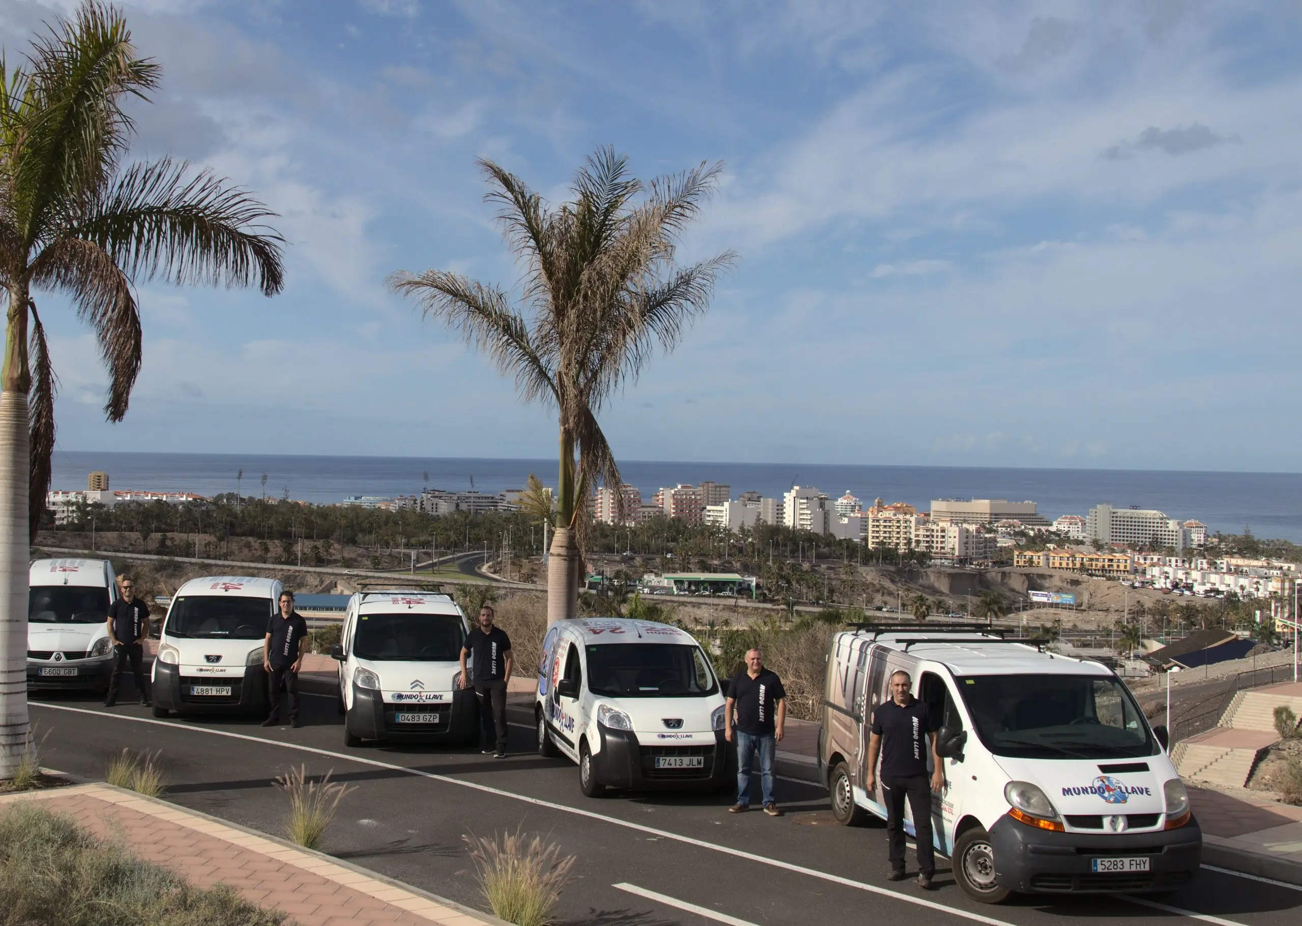
[[[969,896],[1170,891],[1198,871],[1202,832],[1167,731],[1148,727],[1125,684],[1099,663],[976,630],[833,638],[819,762],[840,823],[885,819],[881,776],[871,794],[863,781],[872,711],[896,669],[940,723],[934,843]]]

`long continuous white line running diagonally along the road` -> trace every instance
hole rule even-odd
[[[362,755],[349,755],[346,753],[335,753],[328,749],[318,749],[315,746],[303,746],[297,742],[279,742],[276,740],[267,740],[260,736],[249,736],[247,733],[232,733],[225,729],[206,729],[203,727],[185,727],[180,723],[172,723],[171,720],[155,720],[151,718],[133,718],[125,714],[105,714],[104,711],[92,711],[85,707],[69,707],[66,705],[49,705],[38,701],[31,702],[33,707],[46,707],[52,711],[69,711],[72,714],[89,714],[98,718],[113,718],[115,720],[130,720],[132,723],[143,723],[154,727],[167,727],[168,729],[180,729],[193,733],[208,733],[210,736],[224,736],[230,740],[243,740],[246,742],[258,742],[264,746],[281,746],[283,749],[294,749],[301,753],[312,753],[315,755],[327,755],[332,759],[342,759],[344,762],[353,762],[362,766],[371,766],[372,768],[385,768],[389,771],[406,772],[415,778],[427,778],[435,781],[443,781],[445,784],[454,784],[461,788],[470,788],[471,791],[479,791],[486,794],[496,794],[497,797],[506,797],[513,801],[521,801],[522,804],[533,804],[538,807],[547,807],[549,810],[557,810],[565,814],[573,814],[575,817],[585,817],[587,819],[600,821],[603,823],[609,823],[612,826],[624,827],[625,830],[634,830],[637,832],[650,834],[652,836],[661,836],[664,839],[672,839],[676,843],[684,843],[686,845],[694,845],[700,849],[708,849],[710,852],[717,852],[724,856],[732,856],[734,858],[742,858],[750,862],[759,862],[760,865],[768,865],[775,869],[781,869],[784,871],[792,871],[794,874],[809,875],[810,878],[818,878],[819,880],[831,882],[833,884],[841,884],[842,887],[853,887],[858,891],[866,891],[868,893],[876,893],[883,897],[889,897],[892,900],[898,900],[905,904],[913,904],[914,906],[926,906],[931,910],[937,910],[940,913],[949,913],[956,917],[962,917],[963,919],[971,919],[979,923],[988,923],[988,926],[1013,926],[1004,919],[995,919],[993,917],[982,916],[980,913],[970,913],[969,910],[960,910],[954,906],[945,906],[935,900],[926,900],[923,897],[911,897],[906,893],[900,893],[897,891],[889,891],[884,887],[878,887],[876,884],[866,884],[861,880],[854,880],[852,878],[842,878],[841,875],[829,874],[827,871],[819,871],[818,869],[809,869],[803,865],[796,865],[794,862],[784,862],[779,858],[767,858],[764,856],[756,856],[750,852],[743,852],[742,849],[733,849],[727,845],[716,845],[713,843],[707,843],[702,839],[693,839],[691,836],[684,836],[669,830],[658,830],[656,827],[646,826],[643,823],[633,823],[631,821],[621,821],[617,817],[607,817],[605,814],[599,814],[592,810],[582,810],[581,807],[570,807],[565,804],[555,804],[552,801],[544,801],[539,797],[529,797],[527,794],[517,794],[510,791],[503,791],[501,788],[492,788],[487,784],[478,784],[477,781],[466,781],[465,779],[452,778],[450,775],[436,775],[435,772],[421,771],[419,768],[410,768],[408,766],[397,766],[389,762],[379,762],[376,759],[368,759]],[[1219,921],[1226,922],[1226,921]],[[1233,923],[1232,926],[1242,926],[1241,923]]]

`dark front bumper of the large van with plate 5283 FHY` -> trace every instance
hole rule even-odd
[[[1139,893],[1187,884],[1202,861],[1198,821],[1156,832],[1052,832],[1000,817],[990,830],[999,886],[1022,893]],[[1148,858],[1148,871],[1098,874],[1094,858]]]

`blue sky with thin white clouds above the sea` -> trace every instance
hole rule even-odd
[[[69,4],[0,0],[18,57]],[[36,293],[77,451],[548,457],[555,414],[387,292],[514,288],[488,158],[549,202],[595,148],[724,164],[738,255],[612,397],[620,458],[1298,471],[1302,3],[125,4],[133,159],[211,167],[284,293],[139,284],[126,419]]]

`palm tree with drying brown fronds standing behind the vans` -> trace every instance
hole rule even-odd
[[[721,165],[702,164],[643,186],[629,176],[624,155],[603,147],[575,172],[573,199],[559,207],[497,164],[480,159],[479,165],[487,199],[499,206],[505,238],[526,267],[519,303],[513,306],[501,288],[441,270],[397,272],[389,287],[414,297],[426,318],[458,331],[500,372],[514,376],[525,401],[556,408],[551,624],[577,613],[592,490],[598,482],[624,484],[596,413],[637,379],[658,345],[668,350],[677,344],[733,262],[728,251],[686,267],[674,263],[676,240],[713,191]],[[622,509],[622,494],[616,498]]]

